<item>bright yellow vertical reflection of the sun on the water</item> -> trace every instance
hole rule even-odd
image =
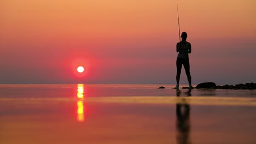
[[[77,85],[77,121],[84,122],[84,96],[86,93],[84,92],[84,84]],[[85,94],[85,95],[84,95]]]

